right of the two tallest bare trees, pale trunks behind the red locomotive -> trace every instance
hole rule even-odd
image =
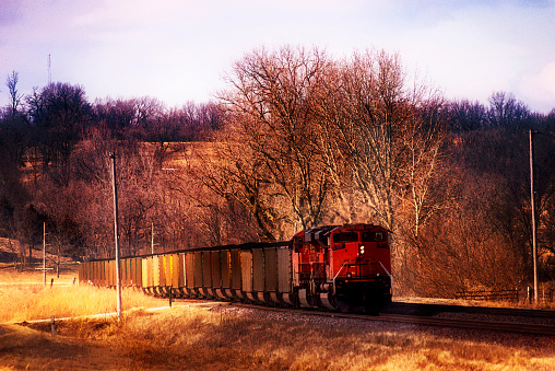
[[[385,51],[355,54],[333,79],[334,93],[327,96],[338,103],[322,104],[334,112],[324,116],[321,132],[330,173],[341,172],[332,175],[338,188],[357,194],[358,208],[369,208],[369,217],[391,230],[410,201],[417,230],[424,208],[432,210],[427,188],[442,140],[441,100],[422,83],[409,86],[399,57]]]

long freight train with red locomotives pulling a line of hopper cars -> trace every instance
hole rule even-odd
[[[120,280],[155,295],[376,311],[391,301],[390,241],[379,225],[319,227],[287,242],[125,257]],[[83,263],[79,280],[115,287],[115,259]]]

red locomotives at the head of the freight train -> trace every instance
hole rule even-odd
[[[315,228],[296,233],[292,245],[300,306],[377,310],[391,301],[390,233],[385,228]]]

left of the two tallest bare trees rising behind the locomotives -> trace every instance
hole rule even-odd
[[[328,65],[317,49],[258,50],[235,65],[232,89],[221,94],[248,149],[244,161],[257,169],[257,182],[268,185],[271,198],[291,210],[290,223],[303,228],[322,221],[330,193],[316,125],[316,96]]]

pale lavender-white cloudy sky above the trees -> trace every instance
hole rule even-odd
[[[555,108],[555,0],[0,0],[0,106],[52,82],[95,98],[206,103],[264,47],[399,54],[448,100]],[[48,68],[50,60],[50,69]]]

